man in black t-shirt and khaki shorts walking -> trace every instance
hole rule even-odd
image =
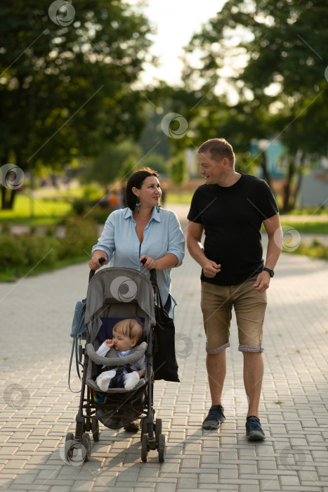
[[[206,333],[206,369],[212,406],[204,429],[218,429],[225,349],[235,309],[239,350],[244,355],[244,386],[249,401],[248,439],[265,439],[258,418],[263,359],[262,329],[266,290],[282,247],[277,203],[265,181],[235,171],[235,154],[224,138],[211,138],[197,150],[205,184],[195,191],[188,214],[188,250],[202,266],[201,307]],[[261,225],[268,233],[265,265]],[[205,233],[204,248],[202,233]]]

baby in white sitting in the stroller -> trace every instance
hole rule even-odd
[[[107,351],[111,347],[114,347],[119,357],[127,356],[142,336],[143,328],[138,321],[133,319],[119,321],[119,323],[114,325],[112,339],[105,340],[96,351],[96,354],[105,356]],[[131,391],[138,384],[140,377],[145,375],[145,367],[145,354],[143,354],[136,363],[131,365],[132,373],[128,373],[124,368],[123,373],[117,379],[117,387],[124,387],[127,391]],[[105,368],[105,365],[103,365],[103,368]],[[98,375],[96,383],[102,391],[107,391],[108,388],[114,387],[112,379],[116,375],[116,372],[117,368],[113,368],[111,370],[105,370]]]

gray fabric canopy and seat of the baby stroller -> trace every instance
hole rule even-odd
[[[120,429],[145,411],[145,394],[149,364],[146,363],[145,377],[142,377],[131,391],[123,388],[109,388],[101,391],[96,384],[99,367],[102,365],[133,364],[138,361],[147,349],[147,343],[133,347],[128,356],[119,357],[112,347],[106,356],[98,356],[96,350],[101,342],[98,333],[103,325],[101,318],[135,318],[144,320],[143,336],[148,340],[150,328],[156,324],[155,306],[152,284],[141,272],[132,268],[106,267],[98,271],[88,284],[86,294],[86,313],[84,323],[88,333],[86,354],[88,365],[86,369],[86,385],[89,389],[100,392],[105,397],[102,403],[96,405],[96,418],[110,429]],[[151,358],[146,354],[146,360]],[[91,391],[92,394],[92,391]],[[93,396],[91,396],[93,399]],[[93,401],[93,400],[92,400]]]

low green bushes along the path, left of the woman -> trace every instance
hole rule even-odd
[[[98,238],[96,222],[91,219],[71,217],[63,226],[63,238],[32,234],[0,234],[0,280],[15,280],[24,275],[66,264],[88,261],[91,247]]]

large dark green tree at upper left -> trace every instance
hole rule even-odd
[[[145,17],[123,0],[57,4],[1,4],[0,157],[24,172],[97,155],[144,124],[131,85],[150,46]],[[15,189],[1,191],[11,207]]]

